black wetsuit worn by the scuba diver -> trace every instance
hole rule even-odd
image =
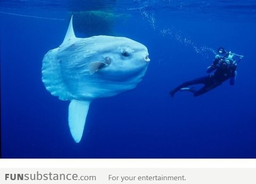
[[[222,82],[226,81],[229,78],[230,78],[230,85],[234,85],[235,76],[236,76],[236,65],[233,62],[230,62],[230,63],[226,62],[224,63],[225,65],[223,66],[223,63],[224,62],[221,62],[220,59],[215,59],[213,61],[213,64],[207,69],[207,73],[211,73],[213,70],[215,70],[214,73],[209,74],[205,77],[199,77],[192,81],[187,81],[185,83],[182,83],[181,85],[171,90],[170,94],[173,97],[174,94],[180,89],[182,89],[183,87],[188,87],[196,84],[204,84],[204,86],[197,91],[195,91],[193,88],[190,88],[191,90],[187,90],[187,91],[193,92],[194,96],[197,97],[198,95],[204,94],[214,89],[215,87],[221,85]]]

